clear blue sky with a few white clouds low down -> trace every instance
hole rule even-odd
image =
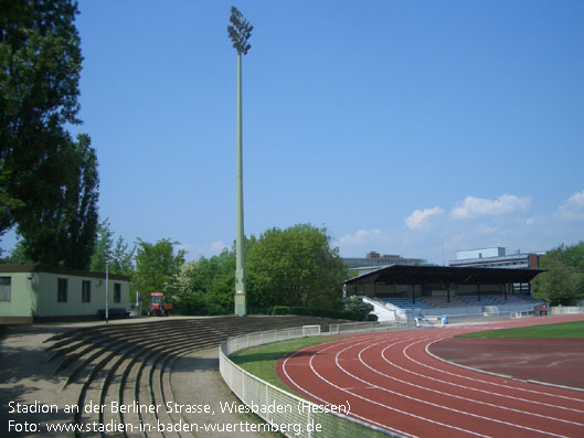
[[[343,257],[439,265],[584,239],[582,1],[81,0],[72,131],[116,237],[232,247],[232,4],[247,235],[311,223]]]

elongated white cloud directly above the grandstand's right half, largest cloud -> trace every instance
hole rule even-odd
[[[453,209],[450,214],[455,220],[472,218],[477,216],[497,216],[513,213],[516,211],[525,211],[529,209],[530,203],[530,197],[520,197],[507,193],[496,200],[467,196]]]

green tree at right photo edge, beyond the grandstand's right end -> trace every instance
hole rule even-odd
[[[535,279],[537,296],[552,306],[574,305],[584,297],[584,242],[561,245],[540,258],[542,269]]]

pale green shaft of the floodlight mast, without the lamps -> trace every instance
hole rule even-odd
[[[243,232],[243,133],[242,133],[242,54],[237,53],[237,226],[235,237],[235,314],[247,314],[245,292],[245,249]]]

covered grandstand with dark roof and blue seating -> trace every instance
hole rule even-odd
[[[396,316],[460,316],[538,311],[542,301],[517,292],[540,269],[392,265],[346,281],[348,295],[367,297]],[[379,313],[379,312],[376,312]]]

